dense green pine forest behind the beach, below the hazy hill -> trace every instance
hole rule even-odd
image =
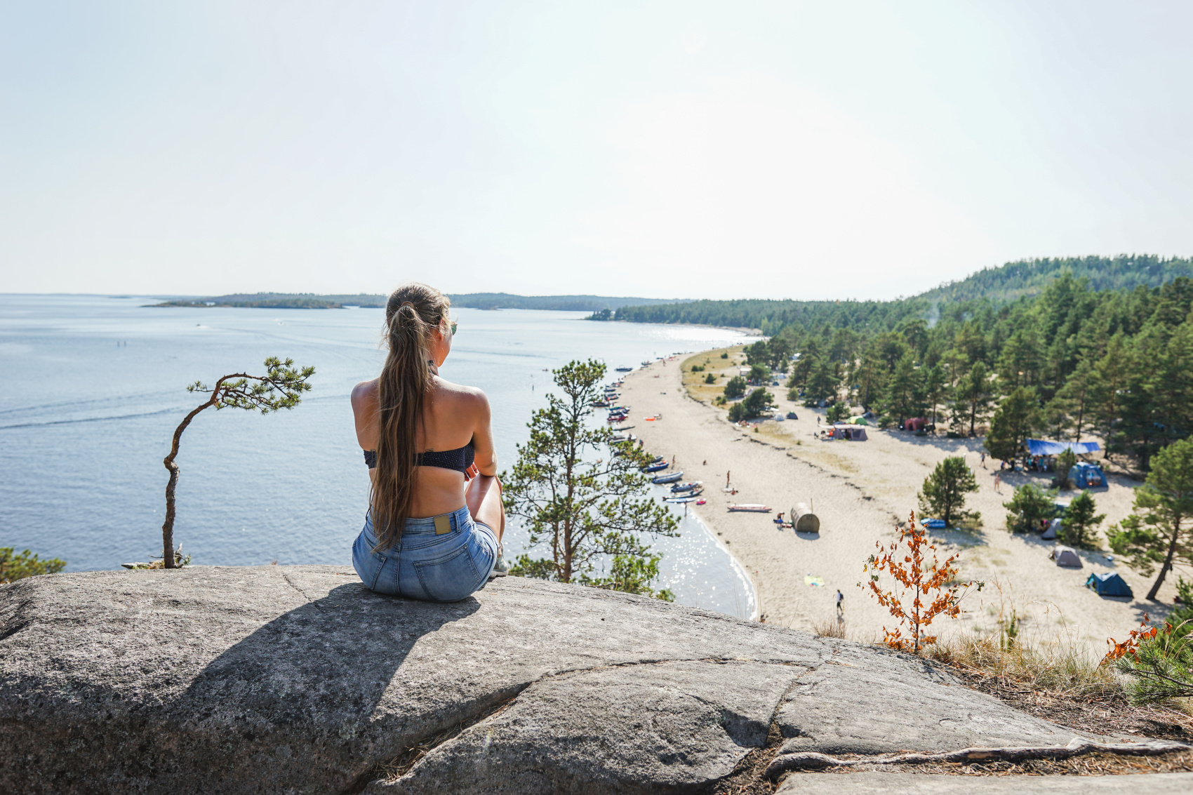
[[[809,403],[848,401],[890,424],[925,417],[984,433],[1005,460],[1028,436],[1093,437],[1106,456],[1146,470],[1193,426],[1191,306],[1186,277],[1098,291],[1064,271],[1034,297],[942,302],[932,323],[910,304],[877,313],[842,303],[747,355],[783,366],[796,353],[787,386]]]

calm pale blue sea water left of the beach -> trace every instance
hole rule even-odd
[[[382,310],[185,309],[153,300],[0,295],[0,547],[118,568],[161,553],[162,456],[202,399],[185,387],[261,370],[268,356],[316,368],[293,411],[209,409],[183,436],[175,543],[194,563],[351,565],[369,476],[348,393],[381,369]],[[531,412],[573,358],[617,366],[747,340],[696,326],[598,323],[583,313],[456,309],[444,377],[489,395],[497,454],[513,463]],[[748,616],[744,573],[693,517],[662,538],[676,600]],[[507,530],[507,554],[526,542]]]

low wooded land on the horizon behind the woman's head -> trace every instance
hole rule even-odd
[[[315,292],[234,292],[206,298],[175,298],[155,307],[245,307],[261,309],[379,309],[385,295],[319,295]],[[453,307],[466,309],[554,309],[601,312],[622,307],[687,303],[691,298],[632,298],[600,295],[512,295],[509,292],[462,292],[450,295]]]

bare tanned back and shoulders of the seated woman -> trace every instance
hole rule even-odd
[[[493,450],[493,430],[489,425],[489,400],[474,387],[431,377],[431,392],[422,401],[418,426],[418,452],[444,451],[463,448],[469,442],[476,451],[476,467],[482,475],[497,474],[497,458]],[[352,413],[356,417],[357,440],[363,450],[377,449],[377,380],[365,381],[352,390]],[[375,477],[376,472],[369,470]],[[450,513],[465,505],[463,473],[439,467],[414,468],[414,518]]]

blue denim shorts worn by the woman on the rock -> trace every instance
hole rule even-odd
[[[438,517],[407,519],[396,544],[373,551],[376,546],[370,511],[352,544],[352,566],[360,580],[377,593],[427,602],[468,597],[484,585],[497,562],[496,534],[474,520],[466,505]]]

